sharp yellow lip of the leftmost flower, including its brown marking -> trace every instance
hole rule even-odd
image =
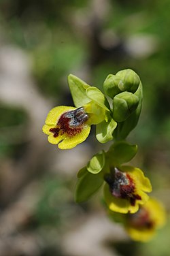
[[[46,118],[44,133],[48,141],[58,144],[58,148],[69,149],[84,142],[90,133],[90,125],[87,123],[88,114],[84,108],[58,106],[52,108]]]

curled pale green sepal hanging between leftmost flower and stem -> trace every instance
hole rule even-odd
[[[110,116],[109,120],[103,121],[99,123],[96,127],[96,138],[101,143],[109,142],[113,140],[113,133],[116,129],[117,123],[114,119]]]

